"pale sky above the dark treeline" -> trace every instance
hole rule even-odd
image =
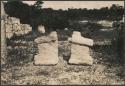
[[[29,5],[35,3],[35,1],[23,1]],[[118,4],[124,6],[124,1],[43,1],[43,8],[53,8],[67,10],[68,8],[88,8],[99,9],[101,7],[110,7],[112,4]]]

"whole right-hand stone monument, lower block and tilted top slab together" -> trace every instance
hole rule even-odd
[[[80,32],[74,31],[69,41],[72,42],[69,63],[92,65],[93,58],[90,56],[89,46],[93,46],[93,40],[84,38]]]

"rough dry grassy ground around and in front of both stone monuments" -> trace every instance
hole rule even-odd
[[[25,38],[25,39],[24,39]],[[37,45],[31,35],[8,40],[8,67],[2,67],[1,83],[6,85],[123,85],[123,65],[112,45],[90,48],[92,66],[70,65],[70,43],[59,41],[59,63],[35,66]]]

